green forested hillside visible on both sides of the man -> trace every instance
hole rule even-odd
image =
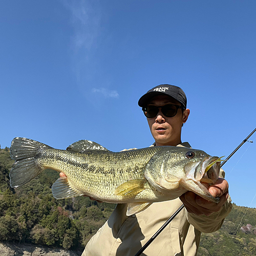
[[[59,175],[53,170],[14,190],[9,185],[9,154],[9,148],[0,149],[0,241],[81,252],[115,205],[86,197],[54,199],[51,186]],[[256,255],[256,209],[234,204],[219,231],[202,234],[198,255]]]

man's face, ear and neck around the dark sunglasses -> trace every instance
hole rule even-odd
[[[167,96],[159,95],[153,97],[147,105],[164,106],[166,104],[181,105],[176,99]],[[166,117],[159,109],[156,117],[147,118],[148,125],[152,136],[156,141],[156,146],[177,146],[181,143],[181,126],[186,122],[189,115],[189,109],[183,111],[178,109],[174,117]]]

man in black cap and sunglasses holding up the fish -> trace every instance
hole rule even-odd
[[[155,143],[152,146],[185,146],[181,127],[187,121],[186,96],[181,88],[161,84],[143,95],[138,104],[147,117]],[[216,184],[208,190],[219,197],[211,203],[188,191],[175,200],[153,203],[147,209],[127,217],[126,204],[118,204],[109,220],[87,244],[82,256],[133,256],[182,205],[185,209],[159,234],[142,255],[171,256],[197,254],[201,232],[218,230],[231,210],[228,183],[221,170]]]

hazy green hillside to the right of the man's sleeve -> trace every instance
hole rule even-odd
[[[233,204],[221,229],[202,233],[198,256],[256,255],[256,209]]]

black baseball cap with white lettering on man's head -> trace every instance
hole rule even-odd
[[[156,86],[149,90],[139,99],[139,106],[146,106],[151,98],[158,95],[168,95],[173,97],[174,99],[178,100],[185,109],[187,108],[187,98],[185,93],[178,86],[172,86],[171,84],[160,84],[160,86]]]

